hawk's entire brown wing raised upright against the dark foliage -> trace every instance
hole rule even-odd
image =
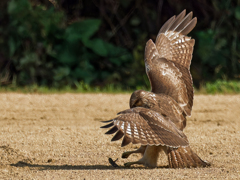
[[[186,16],[185,14],[184,10],[163,25],[158,33],[156,44],[152,40],[147,42],[145,66],[152,92],[173,97],[183,107],[186,115],[190,116],[193,105],[193,84],[189,68],[195,41],[186,35],[195,27],[197,19],[192,19],[192,12]],[[163,59],[167,61],[165,69],[161,68],[159,63]],[[168,71],[167,75],[166,71]],[[171,73],[174,79],[170,79]],[[161,74],[165,75],[164,81],[159,79]],[[168,86],[166,87],[165,84]]]

